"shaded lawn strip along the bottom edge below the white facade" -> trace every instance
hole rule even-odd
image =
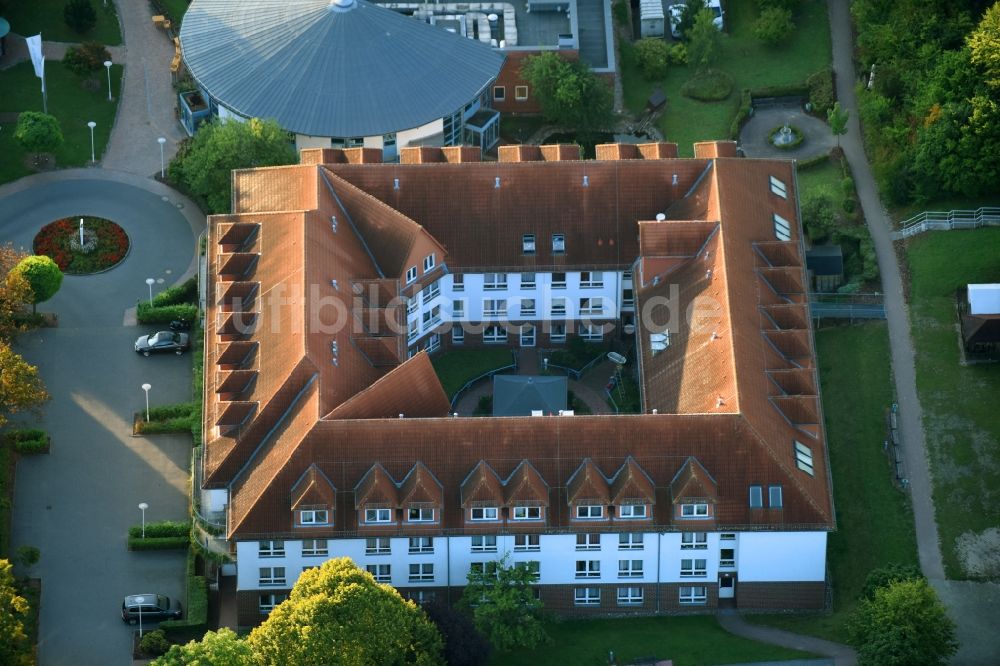
[[[605,666],[641,657],[673,659],[674,666],[806,659],[807,652],[756,643],[726,632],[711,615],[567,620],[548,627],[552,643],[535,650],[498,653],[492,666]]]

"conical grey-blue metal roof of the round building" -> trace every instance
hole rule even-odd
[[[180,40],[191,74],[226,107],[313,136],[387,134],[450,115],[504,61],[364,0],[194,0]]]

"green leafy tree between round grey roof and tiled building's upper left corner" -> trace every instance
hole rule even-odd
[[[214,120],[170,162],[170,178],[203,199],[210,213],[230,212],[234,169],[294,164],[288,133],[273,120]]]

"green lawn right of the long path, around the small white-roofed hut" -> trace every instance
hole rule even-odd
[[[998,248],[995,227],[925,233],[907,248],[917,391],[948,578],[972,577],[956,539],[1000,525],[1000,365],[959,365],[955,315],[955,289],[1000,282]]]

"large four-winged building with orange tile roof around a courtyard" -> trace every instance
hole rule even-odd
[[[835,527],[794,164],[728,142],[317,149],[210,218],[203,514],[239,621],[350,556],[426,601],[508,556],[559,612],[821,608]],[[628,358],[640,413],[465,417],[431,363]]]

